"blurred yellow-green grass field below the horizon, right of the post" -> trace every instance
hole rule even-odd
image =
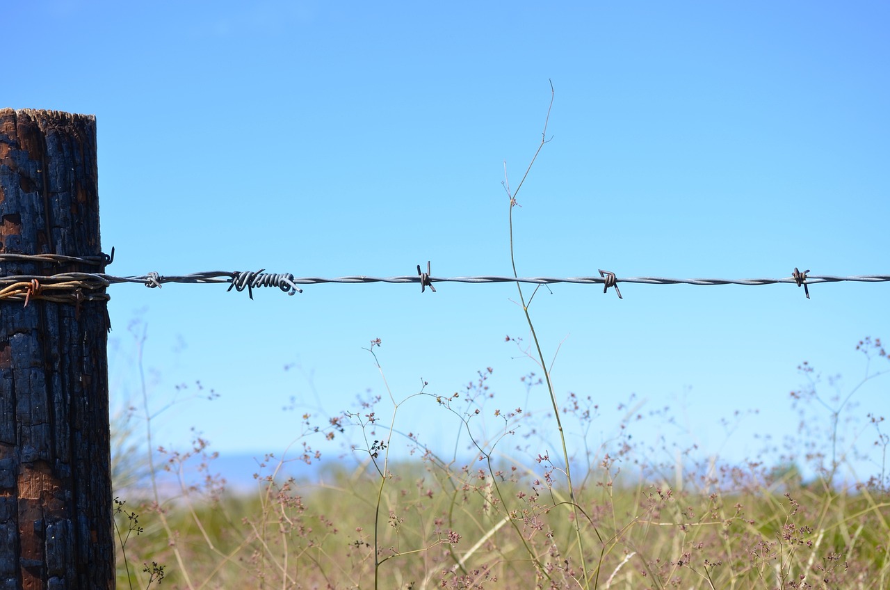
[[[133,587],[142,564],[164,586],[281,588],[591,587],[884,588],[890,497],[869,486],[801,481],[794,469],[721,470],[683,489],[615,479],[604,460],[569,494],[552,467],[449,465],[433,456],[324,484],[263,479],[255,497],[199,490],[135,508],[126,541]],[[130,506],[118,515],[125,532]],[[123,556],[118,587],[128,587]]]

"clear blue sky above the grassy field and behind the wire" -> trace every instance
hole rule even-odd
[[[0,103],[94,113],[109,273],[205,270],[297,276],[510,273],[504,162],[520,275],[785,277],[886,274],[890,42],[885,3],[131,3],[4,8]],[[890,338],[886,283],[763,287],[554,285],[531,307],[557,394],[670,406],[640,437],[756,454],[755,433],[797,430],[789,391],[809,360],[865,367]],[[337,414],[368,389],[449,394],[492,367],[519,406],[536,367],[514,285],[441,283],[226,292],[109,290],[112,398],[151,403],[214,389],[158,416],[159,444],[190,427],[215,449],[280,453],[299,414]],[[289,370],[285,370],[290,366]],[[830,389],[824,389],[828,397]],[[295,397],[300,410],[282,411]],[[887,381],[855,415],[890,413]],[[531,409],[547,406],[533,392]],[[745,414],[756,408],[759,414]],[[385,409],[385,406],[381,409]],[[398,417],[453,444],[429,399]],[[742,411],[727,433],[720,418]],[[862,435],[863,447],[872,436]],[[873,437],[872,437],[873,438]],[[679,444],[679,443],[678,443]],[[551,449],[553,450],[553,449]]]

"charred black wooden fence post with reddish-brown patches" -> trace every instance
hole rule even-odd
[[[103,257],[97,181],[93,116],[0,110],[0,254]],[[103,268],[0,259],[72,272]],[[113,588],[107,303],[39,283],[0,299],[0,590]]]

